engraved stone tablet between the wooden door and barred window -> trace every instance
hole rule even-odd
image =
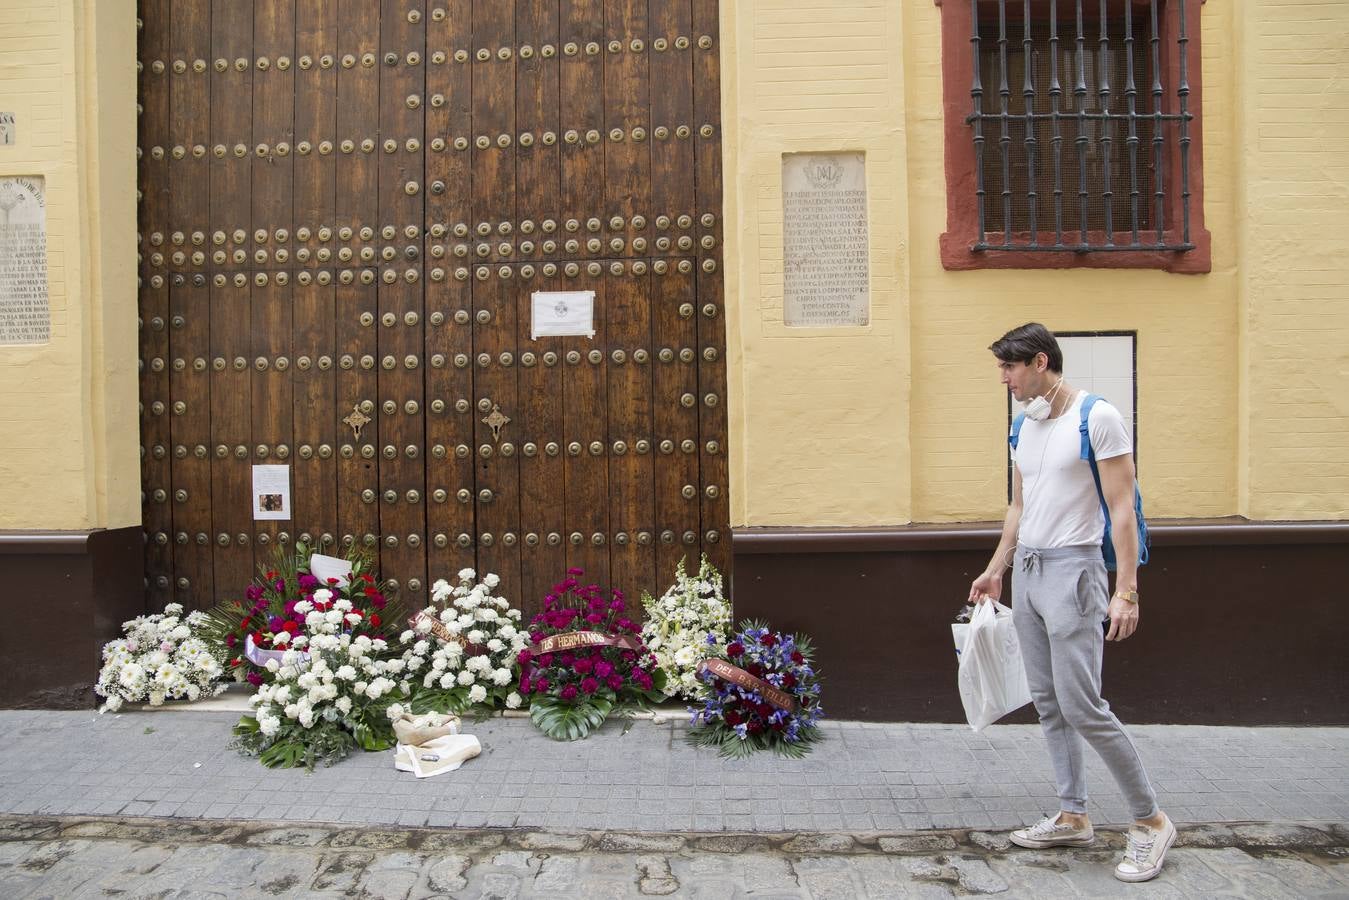
[[[866,325],[866,157],[782,154],[782,321]]]

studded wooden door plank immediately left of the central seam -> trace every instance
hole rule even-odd
[[[379,47],[379,525],[382,571],[413,606],[426,598],[422,407],[425,3],[383,0]],[[409,55],[415,54],[415,55]]]

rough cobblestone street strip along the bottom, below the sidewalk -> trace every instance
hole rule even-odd
[[[1118,833],[1093,849],[1025,851],[978,831],[685,837],[0,816],[0,896],[1349,896],[1342,827],[1190,827],[1144,885],[1110,874],[1120,845]]]

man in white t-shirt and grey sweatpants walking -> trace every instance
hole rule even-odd
[[[1117,560],[1112,596],[1101,546],[1106,522],[1090,464],[1082,459],[1079,425],[1086,391],[1064,382],[1063,352],[1044,325],[1014,328],[989,349],[1012,397],[1028,405],[1013,441],[1012,503],[1002,540],[987,569],[970,586],[970,602],[998,599],[1002,571],[1013,568],[1013,622],[1060,804],[1058,814],[1013,831],[1010,839],[1033,849],[1085,846],[1095,839],[1087,820],[1082,758],[1089,743],[1135,816],[1114,874],[1121,881],[1147,881],[1161,870],[1176,830],[1157,808],[1133,741],[1101,698],[1105,641],[1122,641],[1139,627],[1139,530],[1129,436],[1118,410],[1099,401],[1090,406],[1087,436]]]

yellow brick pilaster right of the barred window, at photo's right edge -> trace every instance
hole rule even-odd
[[[1240,511],[1349,518],[1349,4],[1234,9],[1248,62],[1234,128],[1249,402]]]

